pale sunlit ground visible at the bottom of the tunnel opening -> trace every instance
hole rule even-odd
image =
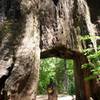
[[[37,96],[36,100],[48,100],[48,96],[47,95],[39,95]],[[58,100],[75,100],[75,96],[70,96],[70,95],[58,95]]]

